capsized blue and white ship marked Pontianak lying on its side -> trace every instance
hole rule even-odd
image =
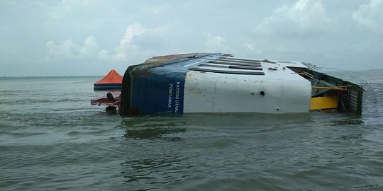
[[[120,115],[193,112],[362,113],[362,87],[304,62],[221,53],[152,57],[123,76]]]

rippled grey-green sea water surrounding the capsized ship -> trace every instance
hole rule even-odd
[[[120,117],[99,77],[0,79],[0,190],[383,190],[383,71],[361,117]]]

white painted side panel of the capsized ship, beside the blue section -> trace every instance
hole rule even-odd
[[[311,83],[290,69],[262,76],[189,71],[184,112],[309,112],[310,98]]]

